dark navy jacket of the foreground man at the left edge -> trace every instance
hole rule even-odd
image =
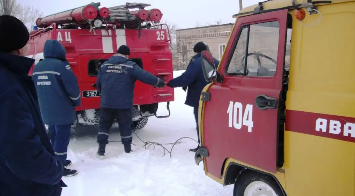
[[[66,186],[28,76],[33,62],[0,53],[1,196],[59,196]]]

